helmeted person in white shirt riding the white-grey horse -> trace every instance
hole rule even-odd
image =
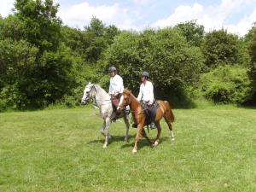
[[[108,94],[111,96],[111,101],[114,109],[114,118],[116,116],[116,108],[119,105],[119,99],[122,96],[124,90],[124,84],[123,79],[117,73],[116,67],[109,67],[108,71],[110,74]]]

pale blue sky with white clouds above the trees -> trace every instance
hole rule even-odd
[[[256,0],[54,0],[64,25],[83,29],[93,16],[106,25],[141,31],[197,20],[206,32],[226,29],[244,36],[256,22]],[[0,14],[12,13],[15,0],[0,0]]]

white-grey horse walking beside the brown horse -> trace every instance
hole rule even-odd
[[[99,84],[87,84],[84,89],[84,96],[82,98],[82,104],[87,104],[91,99],[96,102],[96,106],[100,108],[100,113],[102,116],[103,125],[102,125],[102,135],[105,137],[105,143],[103,144],[103,148],[107,148],[108,139],[111,138],[109,134],[109,125],[111,122],[111,117],[113,116],[113,106],[108,93],[102,89]],[[129,137],[129,113],[121,113],[118,118],[124,118],[126,125],[126,134],[125,141],[128,141]]]

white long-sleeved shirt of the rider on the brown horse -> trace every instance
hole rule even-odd
[[[141,84],[140,92],[137,96],[138,101],[153,102],[154,101],[154,88],[150,81],[146,81],[145,84]]]

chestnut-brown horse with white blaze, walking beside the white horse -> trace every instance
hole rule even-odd
[[[163,117],[166,119],[166,123],[171,131],[172,140],[174,140],[174,133],[172,131],[172,122],[174,121],[174,115],[172,113],[172,108],[167,101],[158,100],[157,103],[159,104],[159,108],[157,108],[155,117],[154,117],[154,124],[157,127],[157,136],[155,137],[154,141],[151,142],[148,138],[146,131],[144,130],[146,115],[144,113],[144,109],[141,103],[137,100],[135,96],[132,95],[131,90],[125,89],[123,91],[123,96],[119,102],[118,109],[125,108],[125,106],[129,105],[131,108],[131,113],[133,114],[134,120],[137,122],[137,136],[135,137],[134,148],[132,149],[132,153],[137,153],[137,143],[139,140],[140,135],[142,134],[151,146],[157,146],[160,143],[160,119]]]

